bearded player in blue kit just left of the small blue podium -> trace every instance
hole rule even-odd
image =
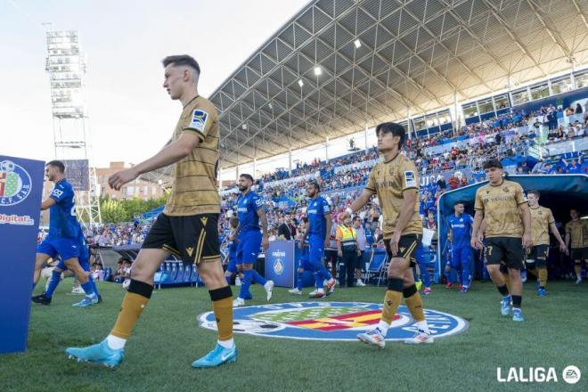
[[[267,233],[267,216],[265,216],[264,202],[251,190],[253,186],[253,177],[247,174],[239,176],[239,191],[241,196],[237,199],[237,215],[239,216],[239,226],[235,230],[236,237],[233,234],[232,241],[235,238],[239,241],[237,245],[237,265],[241,268],[243,279],[241,280],[241,291],[239,297],[233,301],[233,306],[245,305],[245,299],[251,299],[253,296],[249,292],[249,286],[252,282],[264,286],[267,293],[267,300],[272,299],[272,290],[274,289],[273,281],[266,281],[263,276],[257,273],[253,265],[257,261],[259,249],[267,250],[269,246],[269,235]],[[261,224],[261,230],[259,226]]]

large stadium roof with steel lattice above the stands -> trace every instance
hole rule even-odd
[[[221,165],[571,70],[587,15],[584,0],[314,0],[210,96]]]

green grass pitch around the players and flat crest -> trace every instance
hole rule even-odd
[[[40,292],[44,282],[40,282]],[[64,349],[100,341],[110,331],[124,290],[100,283],[104,302],[80,309],[81,299],[61,283],[51,306],[33,304],[29,350],[0,356],[1,391],[478,391],[588,390],[588,284],[550,282],[538,298],[527,282],[523,310],[527,321],[500,314],[500,295],[491,283],[476,282],[470,293],[434,286],[425,307],[465,318],[467,331],[433,345],[388,342],[379,350],[360,342],[268,339],[235,335],[239,358],[216,369],[195,370],[190,363],[211,349],[216,333],[200,329],[196,315],[210,310],[204,288],[157,290],[127,343],[117,369],[69,360]],[[233,288],[233,293],[235,292]],[[265,293],[252,288],[265,304]],[[306,290],[307,291],[307,290]],[[380,303],[384,289],[339,289],[331,301]],[[274,290],[274,303],[305,301],[286,289]],[[6,337],[1,337],[6,339]],[[582,380],[568,385],[561,370],[575,364]],[[559,383],[501,384],[496,368],[555,367]]]

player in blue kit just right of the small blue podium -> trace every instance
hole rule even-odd
[[[306,186],[306,196],[309,198],[306,207],[308,225],[302,238],[302,242],[308,240],[308,260],[314,269],[314,282],[316,290],[310,294],[310,298],[325,298],[335,288],[335,279],[323,265],[323,252],[331,241],[331,207],[329,202],[319,196],[321,187],[316,182]],[[324,291],[324,281],[327,282],[327,293]]]

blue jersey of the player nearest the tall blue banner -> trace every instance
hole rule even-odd
[[[56,203],[49,208],[49,236],[77,238],[81,227],[76,217],[73,187],[64,178],[55,184],[50,197]]]

